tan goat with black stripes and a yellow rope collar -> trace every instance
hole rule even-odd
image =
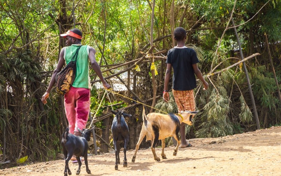
[[[164,153],[165,148],[165,138],[174,137],[178,144],[174,151],[174,156],[177,155],[178,147],[180,145],[179,131],[181,127],[181,123],[186,123],[188,125],[192,125],[192,115],[197,114],[198,111],[190,112],[190,111],[182,111],[181,114],[160,114],[160,113],[149,113],[145,114],[145,110],[143,108],[143,126],[140,131],[140,138],[138,139],[138,143],[135,148],[135,154],[132,158],[132,163],[135,163],[136,154],[140,147],[140,143],[143,138],[146,136],[146,141],[151,140],[151,150],[156,161],[160,161],[160,158],[156,156],[155,153],[155,145],[159,139],[162,142],[162,158],[166,159],[166,155]]]

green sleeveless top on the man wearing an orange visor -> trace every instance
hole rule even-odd
[[[71,45],[64,48],[63,58],[68,64],[81,45]],[[82,45],[76,59],[76,76],[72,84],[75,88],[91,88],[89,77],[89,46]]]

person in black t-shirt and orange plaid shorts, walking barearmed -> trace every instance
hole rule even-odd
[[[170,49],[167,54],[167,69],[165,74],[163,99],[169,101],[168,83],[170,80],[171,67],[173,67],[173,95],[178,106],[178,113],[181,111],[195,111],[195,99],[193,89],[196,88],[196,76],[202,81],[204,90],[208,88],[208,83],[204,80],[202,73],[198,69],[199,62],[196,52],[185,46],[186,30],[177,27],[174,30],[174,39],[177,46]],[[185,139],[186,123],[181,123],[181,145],[180,148],[191,146]]]

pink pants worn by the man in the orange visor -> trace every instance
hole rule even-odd
[[[90,89],[72,87],[64,95],[64,107],[69,133],[85,129],[90,112]]]

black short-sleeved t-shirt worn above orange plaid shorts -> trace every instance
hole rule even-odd
[[[174,47],[168,51],[166,63],[173,67],[173,89],[189,91],[196,88],[192,64],[199,62],[196,52],[188,47]]]

